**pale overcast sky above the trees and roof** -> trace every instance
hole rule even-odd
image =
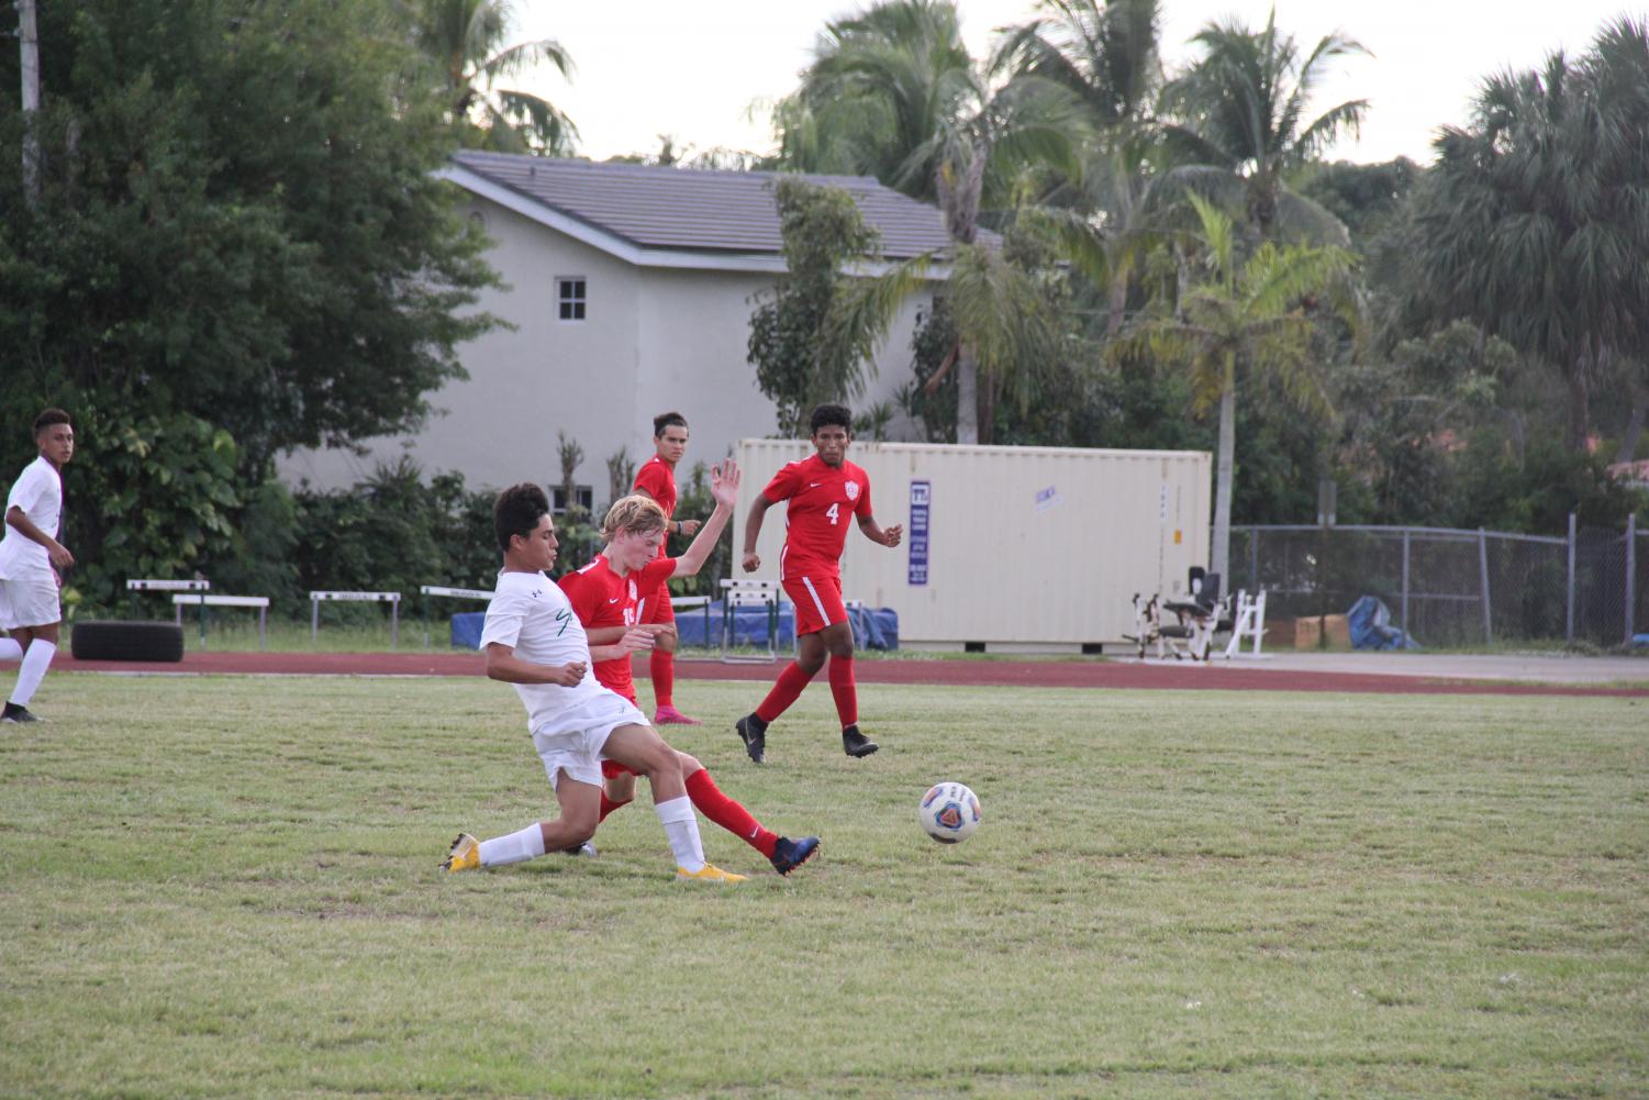
[[[531,91],[579,127],[580,155],[604,160],[651,153],[660,135],[676,147],[772,152],[763,102],[793,91],[824,23],[862,10],[859,0],[625,0],[574,5],[514,0],[514,41],[552,38],[574,61],[567,82],[541,68],[506,86]],[[998,26],[1026,21],[1034,0],[958,0],[963,35],[984,56]],[[1164,0],[1163,56],[1169,71],[1194,58],[1187,40],[1207,21],[1237,16],[1265,25],[1271,0]],[[1331,160],[1428,163],[1436,127],[1466,124],[1482,78],[1532,69],[1553,49],[1578,54],[1623,13],[1649,15],[1649,0],[1276,0],[1278,28],[1301,53],[1339,31],[1370,56],[1331,63],[1316,110],[1367,99],[1360,139]],[[752,104],[754,117],[752,117]]]

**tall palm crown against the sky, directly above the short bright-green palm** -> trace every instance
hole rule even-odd
[[[1240,186],[1248,221],[1265,241],[1281,229],[1318,241],[1346,242],[1346,228],[1318,203],[1288,188],[1290,175],[1314,160],[1342,132],[1357,132],[1367,99],[1351,99],[1306,122],[1306,104],[1327,63],[1365,53],[1341,35],[1324,35],[1301,58],[1293,35],[1214,21],[1192,36],[1205,54],[1169,82],[1164,99],[1179,122],[1169,140],[1199,165],[1181,175],[1205,188]]]

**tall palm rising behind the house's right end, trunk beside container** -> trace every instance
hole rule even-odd
[[[1027,163],[1073,167],[1080,112],[1072,96],[1039,78],[994,84],[961,41],[950,0],[887,0],[829,23],[801,87],[775,110],[788,167],[803,172],[869,172],[882,183],[937,201],[951,239],[953,270],[994,270],[966,259],[981,208],[1006,203]],[[928,261],[923,261],[923,267]],[[910,270],[895,272],[869,300],[887,307],[909,294]],[[871,317],[874,310],[861,312]],[[981,331],[1001,313],[963,318],[956,371],[956,442],[980,442],[976,348],[1001,350],[1011,331]],[[1012,331],[1022,331],[1019,328]],[[1041,348],[1022,346],[986,363],[1011,373]],[[998,379],[999,381],[999,376]]]

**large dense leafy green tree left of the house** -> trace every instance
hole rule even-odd
[[[45,5],[33,119],[0,53],[0,147],[28,122],[43,167],[26,200],[18,160],[0,162],[0,457],[33,454],[41,407],[74,412],[71,521],[107,569],[137,569],[119,552],[139,511],[176,513],[142,552],[188,562],[224,544],[237,487],[282,449],[417,425],[462,376],[457,346],[495,323],[472,310],[495,277],[430,175],[452,139],[397,13]],[[198,491],[160,500],[178,485]]]

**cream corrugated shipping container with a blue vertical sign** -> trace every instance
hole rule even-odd
[[[806,440],[740,440],[734,576],[778,579],[785,506],[762,524],[757,574],[739,566],[745,519],[773,473],[811,454]],[[1118,648],[1135,592],[1184,597],[1191,567],[1207,566],[1207,452],[854,442],[848,460],[904,543],[851,529],[843,597],[894,609],[907,648]]]

